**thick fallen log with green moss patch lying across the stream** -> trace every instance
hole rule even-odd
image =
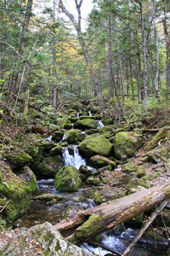
[[[68,241],[79,243],[148,211],[170,197],[170,182],[77,212],[55,227]]]

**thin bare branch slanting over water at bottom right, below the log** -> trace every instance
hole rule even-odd
[[[139,238],[144,234],[144,231],[147,230],[147,228],[150,226],[150,224],[154,221],[154,219],[156,218],[156,216],[163,210],[164,207],[167,206],[168,201],[163,201],[160,205],[160,207],[158,207],[156,209],[155,212],[152,213],[152,215],[150,216],[150,219],[147,221],[146,224],[144,224],[144,227],[139,231],[138,236],[136,236],[133,241],[131,241],[131,243],[129,244],[129,246],[127,247],[127,249],[122,253],[121,256],[126,256],[127,253],[129,253],[132,249],[132,247],[135,245],[135,243],[137,241],[139,241]]]

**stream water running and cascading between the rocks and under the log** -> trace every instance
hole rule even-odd
[[[90,115],[91,113],[89,113]],[[79,116],[79,113],[77,113]],[[102,122],[99,121],[98,128],[102,127]],[[65,133],[66,134],[66,133]],[[50,140],[50,138],[46,138]],[[62,141],[65,140],[65,135]],[[78,152],[77,145],[70,145],[68,147],[62,148],[62,157],[65,162],[65,165],[75,166],[77,169],[81,165],[87,165],[85,159]],[[91,166],[88,166],[92,169]],[[88,187],[87,183],[82,183],[81,189],[74,193],[65,193],[59,192],[54,187],[54,179],[37,179],[38,192],[37,195],[42,194],[57,194],[62,195],[63,200],[53,205],[48,205],[42,201],[31,201],[31,207],[29,211],[21,218],[22,225],[25,227],[31,227],[34,224],[41,224],[45,221],[50,222],[51,224],[57,224],[61,218],[65,218],[65,214],[71,215],[76,212],[77,209],[87,209],[88,207],[95,207],[96,204],[93,199],[89,198],[89,195],[86,191]],[[137,230],[133,230],[129,227],[126,227],[125,224],[121,224],[113,230],[109,230],[101,235],[100,243],[104,244],[107,247],[111,247],[116,251],[122,253],[129,242],[133,240],[133,237],[138,233]],[[83,249],[96,253],[96,255],[104,256],[108,251],[100,247],[92,247],[87,243],[81,246]],[[113,255],[113,254],[112,254]],[[149,241],[146,238],[141,238],[140,241],[133,247],[133,250],[130,254],[131,256],[158,256],[164,255],[167,256],[168,253],[164,252],[163,245],[161,247],[157,246],[155,241]]]

